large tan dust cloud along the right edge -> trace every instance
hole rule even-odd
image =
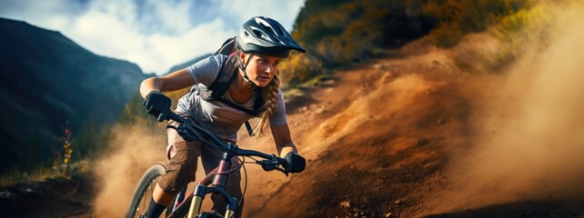
[[[568,8],[545,49],[482,81],[474,149],[453,162],[440,210],[584,197],[584,6]]]

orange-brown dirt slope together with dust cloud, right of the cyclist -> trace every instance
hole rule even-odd
[[[458,68],[497,52],[488,35],[422,39],[308,91],[289,117],[307,171],[248,216],[584,217],[580,18],[499,74]]]

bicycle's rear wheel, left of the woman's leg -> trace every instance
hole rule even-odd
[[[134,191],[130,208],[126,212],[126,218],[134,218],[146,213],[154,188],[165,172],[166,166],[163,163],[155,163],[146,170],[136,187],[136,191]]]

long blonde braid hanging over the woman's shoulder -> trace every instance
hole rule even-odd
[[[254,127],[254,134],[257,135],[259,138],[262,130],[266,126],[269,117],[274,114],[277,107],[277,100],[280,97],[280,75],[279,71],[274,74],[274,78],[272,81],[264,88],[262,88],[262,97],[264,98],[264,105],[262,105],[261,109],[265,110],[264,113],[260,115],[259,121],[257,121],[256,126]]]

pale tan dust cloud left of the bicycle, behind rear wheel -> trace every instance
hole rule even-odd
[[[164,127],[151,124],[116,126],[108,150],[96,162],[96,217],[124,217],[134,189],[146,169],[166,160]]]

